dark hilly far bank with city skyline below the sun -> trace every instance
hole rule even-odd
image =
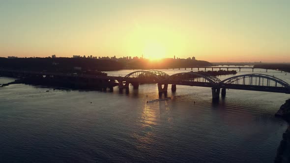
[[[29,71],[72,72],[81,71],[114,71],[120,69],[165,69],[184,67],[211,66],[207,61],[191,59],[165,58],[151,61],[149,59],[92,59],[92,58],[3,58],[0,57],[0,68]]]

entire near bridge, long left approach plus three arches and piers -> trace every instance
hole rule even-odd
[[[206,72],[183,72],[168,75],[162,71],[134,71],[125,77],[116,76],[96,76],[82,74],[64,74],[49,72],[32,72],[18,70],[3,70],[0,73],[16,74],[20,77],[37,77],[45,80],[60,79],[65,82],[75,81],[84,82],[85,84],[97,82],[103,88],[109,87],[113,91],[113,87],[118,85],[119,90],[129,89],[129,84],[134,89],[138,89],[140,83],[157,83],[158,93],[162,95],[167,93],[168,85],[171,84],[172,91],[176,91],[176,85],[202,86],[210,87],[212,90],[212,98],[218,99],[220,94],[226,96],[226,89],[252,90],[264,92],[276,92],[290,94],[290,84],[286,81],[278,79],[274,76],[265,74],[246,74],[233,76],[221,81],[219,78],[210,76]],[[4,74],[5,75],[5,74]],[[101,84],[101,85],[100,85]]]

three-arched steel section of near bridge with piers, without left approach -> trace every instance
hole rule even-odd
[[[222,88],[222,95],[225,95],[225,89],[254,90],[266,92],[278,92],[290,94],[290,84],[274,76],[265,74],[245,74],[238,75],[221,81],[215,76],[206,74],[206,72],[183,72],[169,76],[158,71],[135,71],[125,76],[124,81],[158,83],[159,91],[166,92],[167,85],[172,84],[172,90],[176,90],[176,85],[203,86],[211,87],[218,97],[219,89]],[[166,85],[166,89],[160,85]],[[173,88],[174,87],[174,88]]]

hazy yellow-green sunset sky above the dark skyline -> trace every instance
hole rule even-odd
[[[0,57],[290,62],[290,0],[0,0]]]

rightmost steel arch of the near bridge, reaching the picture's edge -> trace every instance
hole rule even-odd
[[[221,84],[242,84],[242,85],[257,85],[257,86],[275,86],[286,87],[290,90],[290,85],[281,79],[265,74],[245,74],[238,75],[223,81]]]

